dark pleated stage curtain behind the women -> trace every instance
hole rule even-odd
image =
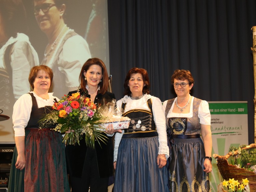
[[[248,101],[254,143],[254,25],[255,0],[108,0],[113,92],[120,99],[128,70],[145,68],[150,94],[165,101],[176,97],[173,71],[190,70],[193,96]]]

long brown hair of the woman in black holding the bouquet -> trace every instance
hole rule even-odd
[[[86,80],[84,79],[84,71],[87,71],[91,65],[99,65],[102,69],[102,79],[99,83],[100,90],[98,91],[98,93],[104,94],[108,90],[108,72],[104,62],[99,58],[91,58],[84,63],[79,75],[80,87],[82,90],[86,90]]]

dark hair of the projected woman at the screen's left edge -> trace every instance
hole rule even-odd
[[[0,0],[0,15],[8,37],[27,32],[26,11],[22,0]]]

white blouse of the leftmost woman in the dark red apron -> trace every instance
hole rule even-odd
[[[53,93],[48,93],[49,99],[43,99],[33,91],[30,91],[29,93],[33,93],[33,95],[36,97],[36,102],[38,105],[38,108],[44,107],[44,106],[52,106],[54,101],[54,98],[56,98],[57,101],[59,99],[57,97],[54,97]],[[13,129],[14,129],[14,136],[25,136],[25,127],[28,124],[28,121],[30,119],[30,114],[32,110],[32,98],[31,96],[26,93],[22,95],[14,104],[13,106]]]

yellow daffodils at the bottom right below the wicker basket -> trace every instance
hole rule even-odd
[[[222,182],[222,185],[225,186],[229,192],[231,191],[237,191],[237,192],[249,192],[250,187],[249,187],[249,181],[248,179],[242,179],[242,183],[240,184],[238,180],[234,179],[229,179],[229,181],[224,181]]]

